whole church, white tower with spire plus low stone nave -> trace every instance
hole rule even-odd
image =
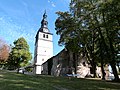
[[[63,49],[57,55],[53,56],[52,38],[53,34],[48,29],[45,12],[35,39],[34,74],[66,76],[69,73],[77,74],[78,78],[92,75],[91,65],[82,52],[75,54]]]

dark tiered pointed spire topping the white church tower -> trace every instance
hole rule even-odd
[[[47,32],[47,33],[49,33],[46,11],[43,14],[43,19],[41,21],[41,28],[39,29],[39,31],[40,32]]]

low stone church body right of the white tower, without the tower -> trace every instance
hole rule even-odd
[[[76,62],[76,67],[73,64],[73,57],[72,52],[63,49],[60,53],[43,64],[43,74],[48,74],[49,72],[49,75],[53,76],[66,76],[67,74],[76,73],[78,78],[84,78],[85,76],[90,75],[90,65],[88,65],[86,57],[80,55]],[[50,61],[52,64],[49,63]]]

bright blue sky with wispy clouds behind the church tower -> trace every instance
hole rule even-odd
[[[57,11],[68,11],[70,0],[0,0],[0,39],[12,44],[24,37],[34,56],[35,36],[41,26],[46,10],[48,28],[53,33],[53,55],[63,47],[58,45],[59,36],[55,31]]]

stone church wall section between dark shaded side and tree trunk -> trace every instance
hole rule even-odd
[[[53,58],[53,65],[51,69],[51,75],[64,76],[67,73],[66,67],[69,66],[67,59],[67,52],[61,51]]]

